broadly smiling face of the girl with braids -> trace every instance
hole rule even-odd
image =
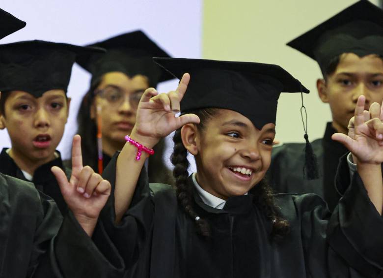
[[[188,127],[184,127],[188,128]],[[271,162],[275,125],[258,130],[249,119],[232,110],[220,109],[205,129],[195,128],[197,181],[211,194],[227,199],[244,195],[265,176]],[[191,142],[182,132],[183,142]]]

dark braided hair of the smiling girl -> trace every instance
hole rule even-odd
[[[198,130],[203,131],[208,120],[218,114],[217,108],[205,108],[192,111],[200,119],[197,125]],[[171,156],[171,162],[174,165],[173,175],[175,178],[175,187],[178,201],[186,214],[190,216],[197,226],[199,234],[210,237],[210,228],[207,220],[200,218],[193,209],[193,190],[192,185],[187,183],[189,176],[189,161],[187,159],[188,151],[182,143],[181,129],[176,130],[174,137],[174,150]],[[266,180],[262,180],[256,185],[251,194],[254,194],[254,202],[263,211],[265,217],[272,222],[271,237],[273,239],[282,238],[289,232],[289,223],[280,217],[279,208],[274,204],[273,190]]]

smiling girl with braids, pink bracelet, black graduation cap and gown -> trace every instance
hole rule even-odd
[[[379,104],[378,111],[368,113],[374,119],[364,123],[365,98],[359,98],[355,132],[333,136],[355,155],[358,175],[350,185],[344,157],[339,182],[350,186],[330,218],[326,203],[316,195],[273,195],[264,180],[279,93],[308,93],[297,79],[271,64],[155,61],[181,79],[180,84],[167,94],[145,91],[128,143],[105,172],[115,190],[102,221],[129,277],[381,274]],[[175,117],[179,110],[181,116]],[[173,130],[175,188],[149,185],[143,160]],[[188,152],[197,166],[189,177]]]

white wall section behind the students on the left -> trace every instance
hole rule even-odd
[[[199,58],[202,0],[0,0],[0,8],[27,22],[27,26],[0,41],[42,39],[87,44],[126,31],[142,29],[173,57]],[[70,116],[58,150],[69,156],[76,115],[90,75],[73,67],[68,95]],[[177,81],[160,84],[159,92],[176,88]],[[0,131],[0,148],[10,147]]]

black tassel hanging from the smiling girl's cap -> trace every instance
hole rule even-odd
[[[307,180],[316,180],[319,178],[318,173],[318,162],[317,156],[314,154],[310,141],[308,141],[307,134],[307,111],[306,107],[303,105],[303,93],[301,93],[301,118],[304,129],[304,140],[306,141],[306,146],[304,147],[304,165],[303,165],[303,177]],[[303,117],[304,113],[304,117]]]

